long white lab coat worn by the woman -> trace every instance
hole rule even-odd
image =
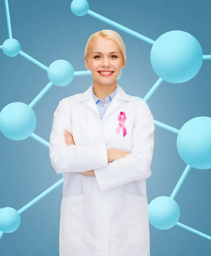
[[[64,173],[60,256],[150,256],[145,179],[151,175],[153,116],[145,101],[117,84],[101,120],[91,89],[62,99],[54,112],[49,153],[54,170]],[[121,111],[125,137],[122,128],[116,132]],[[66,145],[65,129],[75,145]],[[108,163],[110,148],[130,154]],[[92,169],[95,177],[78,173]]]

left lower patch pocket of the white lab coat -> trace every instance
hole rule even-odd
[[[78,247],[82,243],[84,195],[62,199],[60,217],[60,244]]]

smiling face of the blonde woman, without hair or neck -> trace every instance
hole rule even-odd
[[[120,47],[112,39],[95,38],[91,42],[86,68],[91,70],[92,77],[100,84],[112,84],[125,67]],[[112,73],[102,73],[111,71]]]

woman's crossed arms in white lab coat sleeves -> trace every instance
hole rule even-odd
[[[67,99],[61,100],[54,112],[49,153],[51,164],[57,173],[80,173],[94,170],[101,191],[122,186],[135,180],[146,179],[151,175],[154,122],[145,101],[140,100],[137,104],[131,154],[126,154],[120,158],[117,157],[118,151],[116,149],[107,150],[104,143],[67,146],[63,132],[65,129],[71,131],[70,113],[71,106]],[[112,158],[113,161],[111,161]]]

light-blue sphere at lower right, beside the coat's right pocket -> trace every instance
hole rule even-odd
[[[180,219],[180,207],[174,199],[160,196],[148,205],[149,222],[160,230],[174,227]]]

